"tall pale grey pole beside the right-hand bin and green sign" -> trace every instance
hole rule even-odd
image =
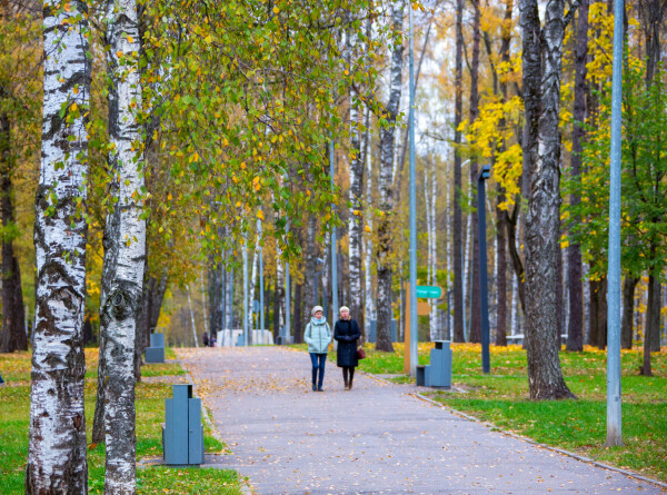
[[[419,331],[417,328],[417,190],[415,179],[415,36],[410,13],[410,376],[417,376]]]

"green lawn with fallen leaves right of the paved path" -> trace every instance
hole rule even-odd
[[[305,345],[293,347],[306,350]],[[402,374],[402,344],[380,353],[367,344],[359,369],[415,383]],[[452,385],[461,393],[424,388],[431,398],[498,428],[565,448],[596,461],[667,482],[667,353],[653,355],[653,377],[639,376],[641,349],[623,350],[623,436],[625,446],[605,448],[607,435],[606,352],[586,346],[560,353],[563,373],[577,400],[530,400],[526,352],[520,346],[491,346],[491,374],[481,374],[481,348],[452,344]],[[429,363],[431,344],[419,344],[419,363]],[[336,360],[336,353],[329,353]]]

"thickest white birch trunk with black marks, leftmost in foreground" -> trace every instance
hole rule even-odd
[[[36,325],[26,493],[88,492],[83,410],[88,7],[43,6],[43,110],[34,198]],[[131,359],[130,359],[131,363]]]

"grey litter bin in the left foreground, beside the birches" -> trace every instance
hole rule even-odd
[[[203,463],[201,399],[192,397],[192,385],[173,385],[173,398],[165,399],[162,425],[165,464],[185,466]]]

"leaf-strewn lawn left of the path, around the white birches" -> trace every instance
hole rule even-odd
[[[168,349],[170,350],[170,349]],[[86,349],[86,420],[88,438],[92,428],[97,387],[97,354]],[[167,353],[167,357],[175,357]],[[3,494],[23,493],[26,458],[28,456],[28,426],[30,416],[30,354],[0,354],[0,370],[8,383],[0,387],[0,479]],[[143,376],[182,375],[177,363],[146,365]],[[160,457],[161,423],[165,422],[165,399],[171,397],[171,386],[161,383],[140,383],[137,397],[137,458]],[[225,451],[225,445],[212,437],[205,422],[205,446],[209,453]],[[104,446],[89,445],[88,471],[90,493],[102,493],[104,483]],[[211,468],[168,468],[151,466],[137,469],[138,492],[141,494],[197,493],[240,494],[240,482],[235,471]]]

